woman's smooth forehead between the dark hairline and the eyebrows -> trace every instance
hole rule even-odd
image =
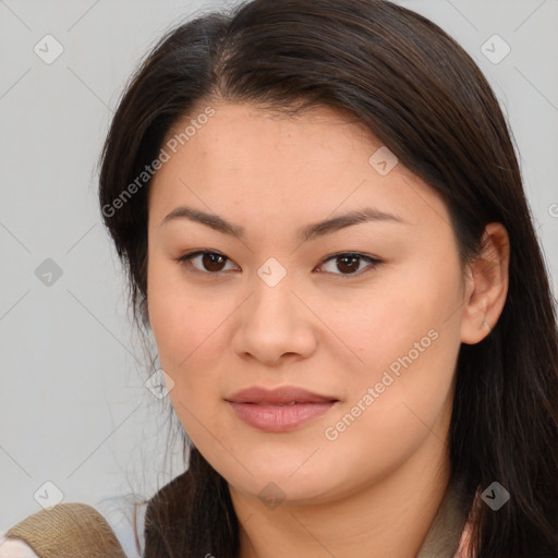
[[[198,119],[208,106],[214,114]],[[250,219],[250,208],[308,221],[371,203],[410,222],[445,214],[437,194],[402,165],[378,172],[376,154],[390,166],[395,156],[389,159],[354,116],[329,107],[290,116],[247,104],[201,104],[175,123],[163,148],[170,158],[149,189],[149,213],[160,218],[185,203],[235,222]]]

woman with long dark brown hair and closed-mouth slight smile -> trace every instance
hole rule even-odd
[[[190,449],[144,556],[558,556],[548,276],[439,27],[384,0],[181,25],[99,199]]]

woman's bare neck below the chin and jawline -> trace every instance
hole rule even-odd
[[[266,508],[229,485],[241,524],[240,558],[414,558],[444,500],[447,446],[430,434],[399,469],[344,497]]]

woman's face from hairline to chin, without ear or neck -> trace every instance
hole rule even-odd
[[[330,109],[211,107],[149,191],[149,318],[187,435],[231,489],[292,502],[436,466],[465,296],[441,198]]]

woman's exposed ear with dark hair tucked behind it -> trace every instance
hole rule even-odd
[[[468,265],[461,342],[475,344],[496,326],[508,294],[510,241],[500,222],[486,226],[482,252]]]

